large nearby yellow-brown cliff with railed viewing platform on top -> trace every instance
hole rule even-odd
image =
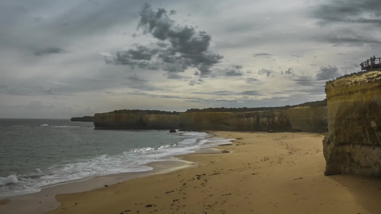
[[[381,71],[327,82],[326,175],[381,176]]]

